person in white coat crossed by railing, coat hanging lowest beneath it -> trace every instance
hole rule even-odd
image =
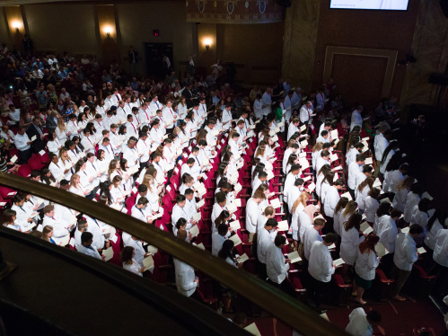
[[[178,232],[178,238],[180,240],[185,240],[187,238],[187,232],[185,230],[180,230]],[[172,260],[174,261],[176,287],[178,292],[183,296],[190,297],[202,303],[202,298],[196,290],[199,286],[199,280],[196,278],[195,270],[183,261],[176,258],[173,258]]]

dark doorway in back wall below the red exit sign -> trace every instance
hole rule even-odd
[[[173,67],[172,43],[144,43],[146,59],[146,75],[163,79],[165,75],[171,74]],[[171,69],[166,67],[163,56],[170,58]]]

